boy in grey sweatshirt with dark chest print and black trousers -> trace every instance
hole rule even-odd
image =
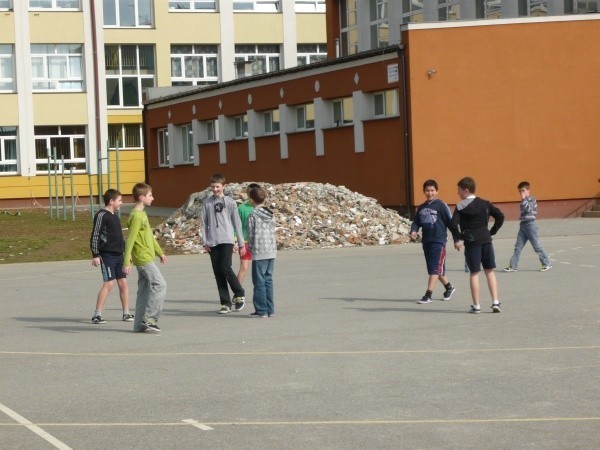
[[[245,304],[244,288],[231,268],[231,256],[235,245],[235,230],[238,236],[242,234],[242,222],[237,210],[237,203],[231,197],[225,196],[223,189],[225,177],[220,173],[210,178],[210,189],[213,193],[204,201],[200,217],[200,235],[204,250],[210,255],[221,309],[219,314],[241,311]],[[244,240],[237,242],[240,256],[246,254]],[[229,296],[229,287],[233,291],[233,299]]]

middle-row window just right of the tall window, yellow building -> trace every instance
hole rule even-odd
[[[206,86],[219,81],[216,45],[171,45],[171,85]]]

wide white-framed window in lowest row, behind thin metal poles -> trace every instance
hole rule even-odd
[[[85,158],[85,126],[37,126],[33,128],[35,135],[35,162],[37,173],[47,173],[48,156],[54,159],[52,170],[62,170],[62,161],[65,171],[71,168],[73,172],[86,171]]]

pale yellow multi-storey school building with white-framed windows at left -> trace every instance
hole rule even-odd
[[[0,0],[0,207],[62,196],[63,169],[78,204],[109,177],[130,193],[144,90],[324,60],[326,40],[325,0]]]

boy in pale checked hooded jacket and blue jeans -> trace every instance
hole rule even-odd
[[[252,253],[252,284],[254,312],[250,317],[274,317],[273,270],[277,254],[275,219],[264,205],[267,194],[261,187],[249,192],[254,210],[248,216],[248,247]]]

